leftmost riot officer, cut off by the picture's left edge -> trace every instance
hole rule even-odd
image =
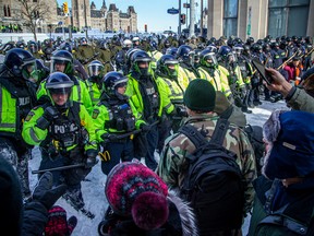
[[[31,145],[22,135],[23,122],[36,105],[36,91],[31,76],[36,71],[36,58],[21,48],[5,55],[0,71],[0,150],[16,169],[24,198],[29,197],[28,160]]]

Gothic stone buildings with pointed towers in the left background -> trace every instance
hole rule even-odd
[[[57,27],[68,27],[70,25],[73,25],[80,31],[84,31],[85,27],[87,27],[97,28],[101,32],[137,32],[137,14],[134,7],[129,7],[126,12],[122,12],[113,3],[107,9],[104,0],[101,8],[97,10],[94,2],[89,4],[89,0],[71,0],[72,8],[69,9],[69,14],[64,15],[62,5],[58,5],[57,1],[27,1],[27,3],[31,4],[29,8],[39,4],[41,5],[41,9],[45,7],[45,10],[38,10],[40,16],[34,17],[34,21],[37,23],[37,33],[50,33],[50,31],[55,32]],[[29,32],[29,30],[25,27],[27,19],[23,16],[22,11],[23,5],[21,4],[21,1],[0,0],[0,26],[19,24],[24,33]]]

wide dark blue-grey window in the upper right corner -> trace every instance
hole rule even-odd
[[[305,35],[309,9],[310,0],[269,0],[268,34],[273,37]]]

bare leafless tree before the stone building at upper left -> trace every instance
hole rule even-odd
[[[49,13],[48,1],[46,0],[19,0],[22,4],[21,16],[24,25],[34,34],[37,42],[36,30],[40,20],[47,17]]]

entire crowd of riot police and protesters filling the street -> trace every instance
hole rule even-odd
[[[109,202],[99,235],[240,236],[252,210],[249,235],[313,234],[311,37],[114,35],[10,42],[0,51],[0,161],[10,173],[0,198],[16,193],[16,235],[70,235],[77,221],[53,205],[60,197],[93,219],[81,184],[99,161]],[[292,110],[273,113],[263,129],[246,122],[250,108],[280,99]],[[192,157],[212,139],[234,158],[241,186],[216,172],[210,189],[186,190]]]

